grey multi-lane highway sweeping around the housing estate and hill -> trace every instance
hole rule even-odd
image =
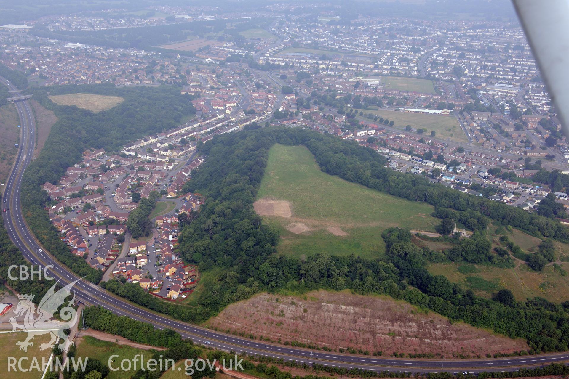
[[[0,81],[7,84],[3,78],[0,78]],[[11,85],[9,85],[9,87],[11,90],[15,89]],[[38,244],[24,223],[22,210],[20,208],[20,184],[22,182],[23,171],[32,159],[35,124],[34,116],[31,113],[27,100],[15,102],[15,105],[20,116],[22,135],[20,136],[17,159],[15,160],[9,180],[7,181],[6,191],[3,197],[3,206],[9,208],[6,213],[3,213],[5,226],[10,238],[20,251],[22,251],[23,256],[28,261],[32,264],[40,264],[42,266],[52,265],[53,269],[48,270],[50,274],[58,278],[62,284],[67,284],[78,280],[79,277],[71,272],[67,266],[59,263],[55,257],[40,250],[43,248]],[[153,313],[144,307],[133,305],[125,299],[116,297],[101,289],[99,286],[82,279],[75,284],[73,291],[77,300],[86,305],[101,305],[105,309],[113,311],[113,313],[151,323],[157,328],[170,328],[179,332],[184,338],[191,338],[199,344],[224,351],[245,352],[249,355],[274,357],[277,359],[282,358],[284,361],[294,360],[298,363],[307,363],[310,365],[316,363],[335,367],[411,373],[440,372],[442,370],[451,373],[463,371],[476,373],[483,371],[512,371],[518,370],[521,366],[537,366],[562,362],[569,359],[569,353],[484,360],[412,360],[309,351],[306,349],[267,344],[257,340],[238,338],[236,336],[197,327],[192,324],[179,322],[167,316]]]

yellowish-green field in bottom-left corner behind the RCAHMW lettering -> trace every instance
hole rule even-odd
[[[26,361],[23,361],[22,366],[25,368],[30,368],[32,364],[32,359],[37,359],[39,365],[42,365],[42,359],[46,362],[51,355],[51,349],[40,350],[40,345],[43,343],[48,343],[50,341],[50,334],[38,335],[33,339],[34,345],[28,347],[28,351],[24,352],[20,350],[19,346],[16,345],[18,341],[23,341],[27,337],[27,332],[10,332],[0,334],[0,351],[2,351],[2,359],[0,359],[0,372],[8,372],[8,359],[7,357],[14,357],[19,360],[21,357],[27,357]],[[31,368],[30,372],[22,372],[18,370],[14,372],[11,370],[9,377],[11,379],[40,379],[43,372]]]

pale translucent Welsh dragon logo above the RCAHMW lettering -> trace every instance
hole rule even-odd
[[[18,296],[19,302],[14,313],[17,316],[26,314],[24,323],[23,325],[18,324],[15,317],[10,318],[10,323],[13,326],[13,331],[24,330],[28,332],[26,340],[16,343],[20,347],[20,350],[27,352],[28,347],[34,345],[32,339],[34,339],[36,335],[43,334],[51,334],[51,340],[48,343],[41,344],[40,350],[53,348],[59,339],[63,340],[63,342],[59,344],[61,351],[67,351],[73,344],[73,341],[69,341],[69,336],[65,335],[64,330],[70,329],[77,322],[77,311],[72,307],[75,301],[75,295],[71,301],[67,302],[60,310],[59,307],[64,305],[65,299],[71,295],[71,288],[77,281],[79,281],[79,279],[69,283],[57,292],[55,291],[57,283],[54,284],[44,295],[37,309],[35,304],[32,303],[34,295],[25,294]],[[53,319],[53,315],[58,310],[59,319],[63,321]],[[36,314],[38,317],[34,318]]]

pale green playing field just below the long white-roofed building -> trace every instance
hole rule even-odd
[[[395,128],[405,130],[407,125],[410,125],[415,130],[420,128],[427,128],[426,136],[431,135],[431,131],[435,131],[436,138],[450,139],[456,142],[468,142],[467,136],[460,127],[458,120],[455,116],[442,116],[432,114],[420,114],[409,112],[396,112],[388,110],[363,110],[358,109],[358,113],[362,111],[364,114],[373,113],[383,118],[393,120]]]

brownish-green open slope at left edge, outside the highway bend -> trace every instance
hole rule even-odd
[[[13,103],[0,107],[0,183],[5,183],[18,152],[14,144],[20,139],[19,124],[20,118]]]

